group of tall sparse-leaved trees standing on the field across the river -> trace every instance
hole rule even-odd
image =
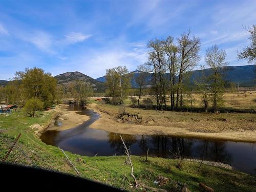
[[[150,90],[158,109],[182,110],[184,100],[191,101],[192,105],[193,96],[189,92],[189,77],[185,72],[199,65],[200,39],[192,36],[188,31],[176,38],[176,41],[172,36],[161,40],[158,38],[150,40],[147,48],[149,50],[147,62],[137,67],[141,71],[136,78],[139,85],[137,106],[141,93],[147,88],[148,73],[153,74]],[[197,91],[202,95],[205,111],[208,109],[209,101],[214,110],[223,103],[223,69],[228,64],[225,59],[225,51],[220,50],[216,45],[206,51],[205,64],[201,68],[212,68],[212,74],[208,76],[201,74],[195,82]],[[169,75],[167,76],[166,73]],[[131,74],[126,67],[119,66],[106,70],[107,94],[112,97],[113,104],[123,103],[127,90],[131,87],[130,78]],[[169,106],[167,100],[170,100]]]

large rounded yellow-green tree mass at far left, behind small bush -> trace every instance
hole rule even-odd
[[[26,101],[36,98],[50,106],[56,99],[56,80],[50,73],[39,68],[26,68],[15,73],[7,86],[2,87],[0,96],[5,103],[25,105]]]

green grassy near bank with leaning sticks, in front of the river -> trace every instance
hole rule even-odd
[[[36,117],[28,117],[23,111],[13,112],[6,116],[0,116],[0,159],[3,159],[8,152],[15,137],[22,133],[18,143],[7,159],[8,163],[23,164],[34,167],[52,169],[67,174],[76,175],[75,170],[68,163],[59,148],[43,143],[34,130],[32,124],[46,124],[49,122],[53,112],[38,112]],[[9,130],[6,130],[9,129]],[[98,180],[102,183],[126,190],[142,190],[131,187],[133,184],[130,176],[131,167],[126,165],[125,156],[109,157],[87,157],[67,152],[67,155],[79,170],[84,178]],[[225,168],[202,165],[197,173],[199,163],[185,161],[182,169],[176,168],[176,160],[149,157],[132,156],[134,175],[140,184],[164,188],[171,191],[180,191],[177,182],[187,183],[191,191],[201,191],[198,183],[204,182],[215,191],[254,191],[256,190],[256,177],[228,170]],[[169,166],[168,166],[169,162]],[[168,168],[170,167],[170,169]],[[127,176],[128,180],[123,178]],[[169,181],[162,185],[155,185],[153,182],[157,176],[169,178]]]

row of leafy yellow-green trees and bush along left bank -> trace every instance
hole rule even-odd
[[[0,103],[20,104],[34,116],[35,110],[48,108],[62,99],[87,104],[92,92],[89,82],[77,80],[60,85],[50,73],[40,68],[26,68],[25,71],[16,72],[7,86],[0,87]]]

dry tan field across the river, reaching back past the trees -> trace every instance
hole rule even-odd
[[[152,97],[152,96],[143,96]],[[193,94],[194,112],[190,112],[190,103],[185,102],[187,112],[159,111],[154,108],[146,110],[144,108],[131,107],[131,99],[125,100],[125,112],[130,114],[120,116],[123,113],[123,106],[96,103],[95,109],[112,116],[116,121],[128,122],[140,125],[156,125],[162,127],[177,127],[187,129],[191,132],[220,133],[237,131],[256,130],[256,93],[225,93],[225,103],[220,109],[222,113],[205,113],[197,111],[202,108],[201,95]],[[169,105],[170,103],[167,102]],[[211,103],[209,103],[211,104]],[[186,110],[185,110],[186,111]],[[240,113],[243,112],[243,113]],[[138,118],[137,118],[138,117]],[[251,139],[250,139],[251,140]]]

